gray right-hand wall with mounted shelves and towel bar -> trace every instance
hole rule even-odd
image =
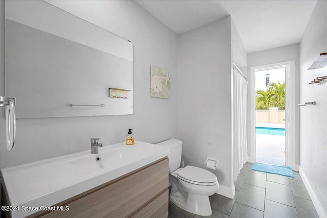
[[[318,1],[300,42],[300,173],[305,175],[322,208],[327,212],[327,83],[309,85],[314,70],[307,70],[320,53],[327,52],[327,2]],[[327,75],[327,69],[324,70]],[[312,198],[313,201],[315,200]]]

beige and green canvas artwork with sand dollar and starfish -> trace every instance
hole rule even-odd
[[[150,66],[150,96],[169,99],[170,75],[167,69]]]

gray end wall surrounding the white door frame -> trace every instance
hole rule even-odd
[[[250,74],[250,68],[253,66],[262,66],[286,61],[295,61],[295,103],[299,103],[299,44],[292,44],[275,49],[264,50],[247,54],[248,79],[253,77]],[[248,84],[250,90],[250,83]],[[248,100],[250,100],[250,91],[248,91]],[[250,105],[247,110],[247,128],[250,130]],[[295,163],[299,164],[299,108],[295,107]],[[250,131],[247,135],[248,153],[250,152]],[[250,154],[249,154],[250,156]]]

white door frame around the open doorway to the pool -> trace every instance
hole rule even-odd
[[[249,162],[255,160],[255,71],[259,69],[273,69],[289,67],[286,70],[286,105],[285,105],[285,162],[286,165],[298,171],[298,164],[295,164],[295,61],[280,62],[250,68],[250,156]]]

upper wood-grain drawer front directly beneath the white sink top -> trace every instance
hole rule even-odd
[[[155,198],[158,193],[167,189],[168,174],[168,159],[166,158],[65,204],[69,206],[68,211],[53,211],[42,217],[130,216],[134,211],[148,204],[148,201]]]

